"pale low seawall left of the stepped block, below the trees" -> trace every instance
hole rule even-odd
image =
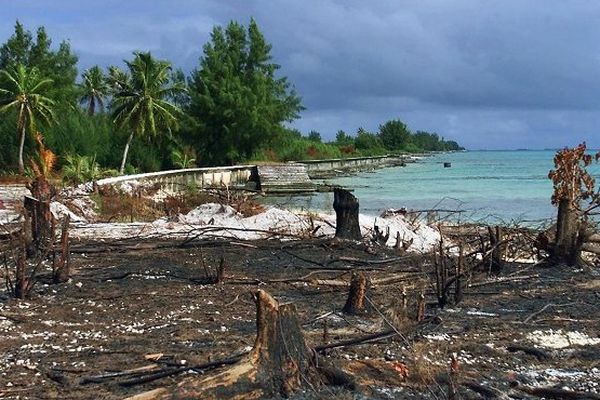
[[[101,179],[99,186],[115,185],[127,182],[160,184],[167,192],[177,192],[183,188],[210,187],[256,187],[257,172],[255,165],[235,165],[232,167],[187,168],[147,174],[124,175],[114,178]]]

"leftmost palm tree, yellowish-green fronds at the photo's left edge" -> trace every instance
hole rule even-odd
[[[17,113],[17,134],[21,135],[19,143],[19,173],[25,171],[23,164],[23,147],[25,135],[36,132],[36,119],[46,123],[54,121],[52,106],[54,101],[42,95],[44,89],[52,84],[52,79],[43,79],[37,68],[27,69],[17,64],[10,71],[0,70],[0,112],[15,110]]]

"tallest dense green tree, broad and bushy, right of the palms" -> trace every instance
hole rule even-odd
[[[200,68],[189,80],[191,139],[204,164],[233,164],[252,157],[298,118],[300,98],[287,78],[276,77],[271,45],[252,19],[215,27]]]

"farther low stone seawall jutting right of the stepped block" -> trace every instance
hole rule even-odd
[[[386,155],[378,157],[354,157],[335,158],[330,160],[308,160],[302,161],[302,163],[306,164],[308,175],[313,179],[318,179],[344,174],[348,172],[402,166],[410,161],[410,157]]]

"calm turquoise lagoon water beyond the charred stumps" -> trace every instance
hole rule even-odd
[[[386,168],[325,180],[354,190],[360,212],[379,215],[385,209],[461,210],[463,221],[537,223],[551,219],[552,183],[548,171],[555,151],[467,151],[436,154],[406,167]],[[443,163],[452,163],[444,168]],[[600,175],[594,165],[593,175]],[[287,208],[331,211],[333,193],[274,197]]]

